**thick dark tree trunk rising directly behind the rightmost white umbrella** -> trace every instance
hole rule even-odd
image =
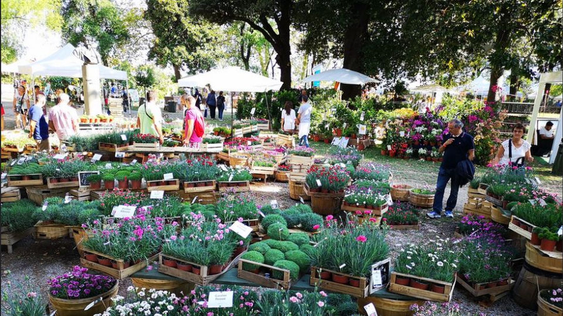
[[[368,4],[352,4],[350,22],[344,35],[344,62],[346,69],[361,72],[361,49],[368,29]],[[341,84],[343,100],[352,100],[361,95],[361,85]]]

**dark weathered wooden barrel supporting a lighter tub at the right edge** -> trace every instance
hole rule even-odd
[[[539,290],[548,290],[560,285],[561,270],[552,273],[531,267],[528,263],[525,263],[512,287],[512,295],[518,305],[528,309],[536,309],[538,288]]]

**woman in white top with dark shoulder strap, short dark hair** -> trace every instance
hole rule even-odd
[[[522,139],[526,128],[522,124],[516,124],[512,128],[512,138],[502,142],[502,146],[498,148],[497,156],[493,159],[493,165],[501,164],[507,165],[508,162],[516,163],[523,162],[522,157],[528,162],[534,161],[534,157],[530,153],[530,143]],[[510,147],[512,147],[512,156],[510,155]],[[519,160],[519,161],[517,161]]]

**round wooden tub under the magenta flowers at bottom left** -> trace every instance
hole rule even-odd
[[[49,301],[53,305],[53,308],[57,310],[56,316],[91,316],[104,313],[109,306],[113,305],[111,298],[117,295],[118,290],[119,281],[115,283],[115,286],[112,287],[111,290],[98,296],[88,297],[87,299],[68,300],[49,295]],[[88,304],[100,297],[103,297],[102,301],[95,304],[90,309],[84,310]]]

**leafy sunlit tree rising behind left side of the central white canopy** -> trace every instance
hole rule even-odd
[[[190,17],[188,1],[147,0],[145,17],[155,35],[149,59],[172,65],[176,80],[185,66],[188,73],[209,70],[221,59],[221,30],[203,19]]]

